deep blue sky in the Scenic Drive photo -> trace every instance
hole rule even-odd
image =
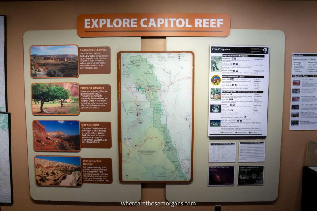
[[[46,132],[61,131],[66,135],[79,134],[79,122],[69,120],[39,121],[44,125]]]

